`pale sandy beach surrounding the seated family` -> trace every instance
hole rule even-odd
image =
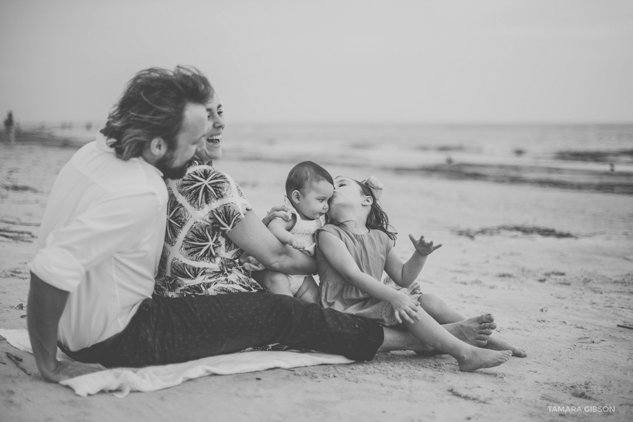
[[[55,176],[76,151],[49,144],[0,143],[0,328],[26,328],[25,264]],[[227,151],[216,166],[264,216],[281,202],[294,156],[272,161]],[[305,159],[319,157],[324,153]],[[372,362],[207,376],[123,399],[81,398],[45,383],[32,355],[1,340],[0,419],[176,421],[186,409],[192,421],[633,420],[633,329],[618,327],[633,326],[631,174],[603,174],[624,186],[609,193],[394,171],[371,159],[321,164],[333,175],[381,178],[402,257],[412,251],[409,233],[444,244],[418,279],[422,290],[468,316],[492,312],[497,333],[528,357],[463,373],[452,357],[390,352]],[[5,352],[23,359],[21,369]]]

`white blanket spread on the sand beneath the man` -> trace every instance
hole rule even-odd
[[[27,330],[0,329],[0,336],[13,347],[32,353]],[[59,360],[71,360],[57,350]],[[125,397],[130,391],[154,391],[179,385],[183,381],[210,374],[242,374],[271,368],[310,367],[319,364],[347,364],[354,362],[347,357],[325,353],[301,352],[244,352],[231,355],[205,357],[181,364],[162,367],[115,368],[71,378],[60,382],[86,397],[100,391],[116,391],[117,397]]]

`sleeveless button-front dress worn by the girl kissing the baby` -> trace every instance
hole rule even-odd
[[[356,235],[344,227],[331,224],[325,225],[319,230],[324,230],[341,239],[360,270],[376,280],[381,280],[387,255],[393,247],[393,241],[385,232],[369,230],[366,235]],[[328,263],[318,242],[315,256],[319,269],[319,280],[321,281],[319,303],[323,308],[331,308],[357,317],[373,319],[384,326],[399,324],[395,319],[390,303],[373,298],[347,282]],[[392,289],[401,289],[389,277],[385,277],[384,284]],[[420,295],[410,296],[417,299]]]

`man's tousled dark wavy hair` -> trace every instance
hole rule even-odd
[[[172,150],[187,103],[205,105],[213,94],[208,79],[195,67],[141,70],[127,84],[101,133],[115,140],[110,147],[124,160],[139,157],[154,138],[162,138]]]

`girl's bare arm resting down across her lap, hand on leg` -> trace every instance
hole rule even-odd
[[[411,318],[420,319],[417,314],[418,303],[406,294],[385,286],[371,275],[362,272],[341,239],[325,231],[317,232],[316,236],[319,251],[350,284],[373,298],[390,303],[396,310],[395,316],[399,322],[402,322],[400,316],[411,323],[413,322]]]

